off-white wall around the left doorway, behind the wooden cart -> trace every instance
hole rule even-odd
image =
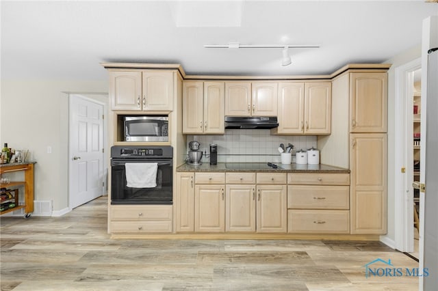
[[[107,81],[1,80],[0,142],[29,150],[35,200],[68,208],[68,94],[108,91]],[[47,153],[51,146],[52,153]]]

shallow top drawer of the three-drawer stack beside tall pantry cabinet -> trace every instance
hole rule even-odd
[[[287,184],[303,185],[349,185],[350,174],[289,173]]]

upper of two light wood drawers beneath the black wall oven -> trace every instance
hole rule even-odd
[[[111,221],[172,221],[172,205],[111,206]]]

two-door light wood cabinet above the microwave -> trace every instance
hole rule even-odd
[[[110,71],[112,110],[172,111],[173,72]]]

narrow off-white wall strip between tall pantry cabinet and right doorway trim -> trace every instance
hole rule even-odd
[[[388,71],[388,232],[385,236],[387,239],[394,241],[395,240],[395,198],[396,193],[394,189],[395,185],[395,174],[396,171],[400,171],[400,169],[396,169],[396,160],[395,160],[395,152],[396,141],[395,141],[395,133],[396,133],[396,124],[395,124],[395,103],[396,103],[396,76],[395,71],[398,66],[402,66],[404,64],[413,61],[421,57],[421,44],[415,46],[407,51],[400,53],[392,57],[391,59],[385,61],[385,63],[392,64],[391,68]]]

